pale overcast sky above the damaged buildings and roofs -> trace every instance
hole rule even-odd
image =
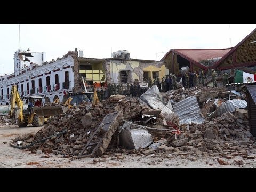
[[[113,52],[127,49],[133,59],[159,61],[170,49],[235,46],[255,28],[256,24],[21,24],[20,35],[21,49],[46,52],[47,61],[61,58],[76,47],[89,58],[110,58],[111,49]],[[0,75],[13,73],[13,54],[19,49],[19,25],[0,25],[0,42]]]

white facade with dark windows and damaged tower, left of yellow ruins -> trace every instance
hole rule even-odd
[[[25,53],[25,55],[20,53]],[[13,57],[14,73],[0,77],[0,105],[9,105],[13,84],[18,85],[21,96],[41,95],[45,99],[44,102],[53,102],[58,97],[60,101],[63,101],[64,91],[72,92],[74,87],[73,58],[69,55],[57,61],[43,63],[45,60],[44,52],[31,53],[32,56],[30,57],[27,56],[30,55],[27,53],[31,52],[23,50],[15,52]],[[25,57],[30,61],[24,61]],[[26,67],[23,67],[24,64]],[[41,82],[40,86],[39,82]]]

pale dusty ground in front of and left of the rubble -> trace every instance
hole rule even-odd
[[[93,163],[94,159],[104,161],[103,158],[83,158],[74,159],[71,157],[63,158],[62,155],[49,154],[49,158],[44,158],[45,154],[30,154],[25,151],[9,146],[9,143],[20,134],[37,132],[41,127],[19,128],[18,125],[1,125],[0,126],[0,168],[3,167],[38,167],[38,168],[60,168],[60,167],[90,167],[90,168],[128,168],[128,167],[145,167],[145,168],[175,168],[175,167],[247,167],[255,168],[256,160],[235,156],[235,160],[242,160],[244,165],[237,165],[234,159],[222,158],[231,163],[231,165],[220,165],[217,161],[219,157],[196,157],[196,156],[174,156],[163,153],[150,155],[144,154],[123,154],[124,159],[112,159],[115,154],[108,155],[105,162]],[[4,144],[3,142],[7,142]]]

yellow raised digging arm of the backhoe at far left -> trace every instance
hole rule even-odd
[[[18,119],[20,119],[21,122],[24,122],[23,101],[20,98],[20,94],[18,92],[17,85],[12,85],[10,101],[11,101],[11,107],[10,107],[10,111],[9,111],[10,117],[17,118],[17,117],[15,117],[16,115],[14,115],[15,103],[17,103],[17,106],[19,108],[17,111],[18,112],[17,116],[19,115]]]

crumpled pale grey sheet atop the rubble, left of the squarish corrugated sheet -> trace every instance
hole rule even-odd
[[[162,113],[173,113],[168,107],[164,105],[161,94],[156,85],[143,93],[139,99],[147,103],[147,105],[153,109],[161,109]],[[170,105],[171,103],[169,103],[169,107],[171,107]]]

